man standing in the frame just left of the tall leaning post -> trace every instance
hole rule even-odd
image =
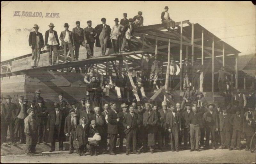
[[[161,62],[158,60],[158,55],[155,55],[155,60],[151,63],[151,73],[149,87],[151,87],[153,82],[153,88],[156,88],[156,81],[158,79],[158,74],[161,71]]]

